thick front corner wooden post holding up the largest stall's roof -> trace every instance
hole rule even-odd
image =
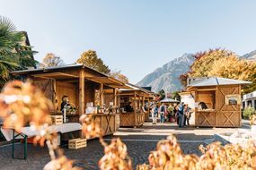
[[[79,115],[85,114],[85,103],[84,103],[84,69],[80,71],[79,75]]]

